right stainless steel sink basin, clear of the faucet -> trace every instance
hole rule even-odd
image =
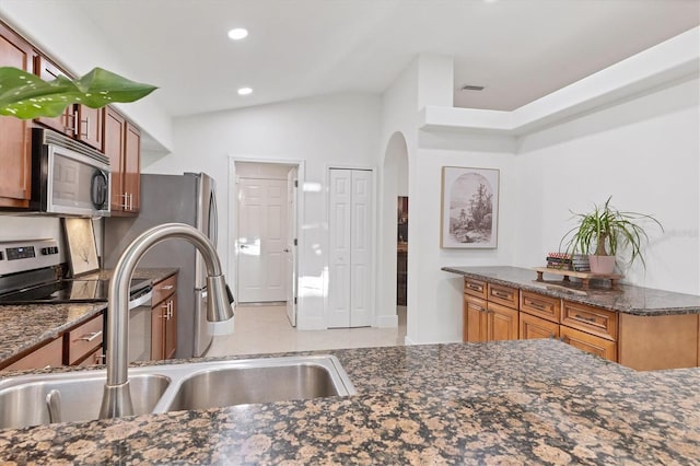
[[[185,378],[167,411],[206,409],[252,403],[347,395],[347,384],[326,360],[259,360],[211,368]],[[349,381],[348,381],[349,382]]]

